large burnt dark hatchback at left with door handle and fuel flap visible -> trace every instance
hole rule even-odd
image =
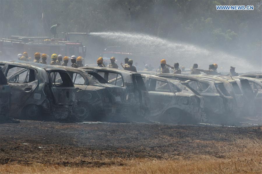
[[[69,119],[76,112],[74,84],[66,70],[26,61],[0,62],[11,88],[10,115]]]

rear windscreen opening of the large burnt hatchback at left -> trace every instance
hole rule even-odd
[[[66,72],[49,72],[51,82],[56,87],[74,87],[70,76]]]

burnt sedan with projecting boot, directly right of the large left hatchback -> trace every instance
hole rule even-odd
[[[121,87],[100,83],[97,79],[106,81],[93,70],[57,67],[64,68],[68,72],[76,88],[78,111],[75,117],[78,120],[98,120],[104,116],[116,115],[122,102]]]

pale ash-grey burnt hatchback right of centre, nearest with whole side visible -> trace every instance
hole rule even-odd
[[[142,74],[150,97],[149,117],[163,122],[206,122],[204,97],[188,83]]]

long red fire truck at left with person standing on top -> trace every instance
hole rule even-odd
[[[17,54],[27,52],[34,58],[34,53],[45,53],[62,56],[82,56],[85,58],[86,47],[82,42],[68,41],[68,39],[52,39],[50,37],[10,36],[0,39],[1,60],[16,60]]]

